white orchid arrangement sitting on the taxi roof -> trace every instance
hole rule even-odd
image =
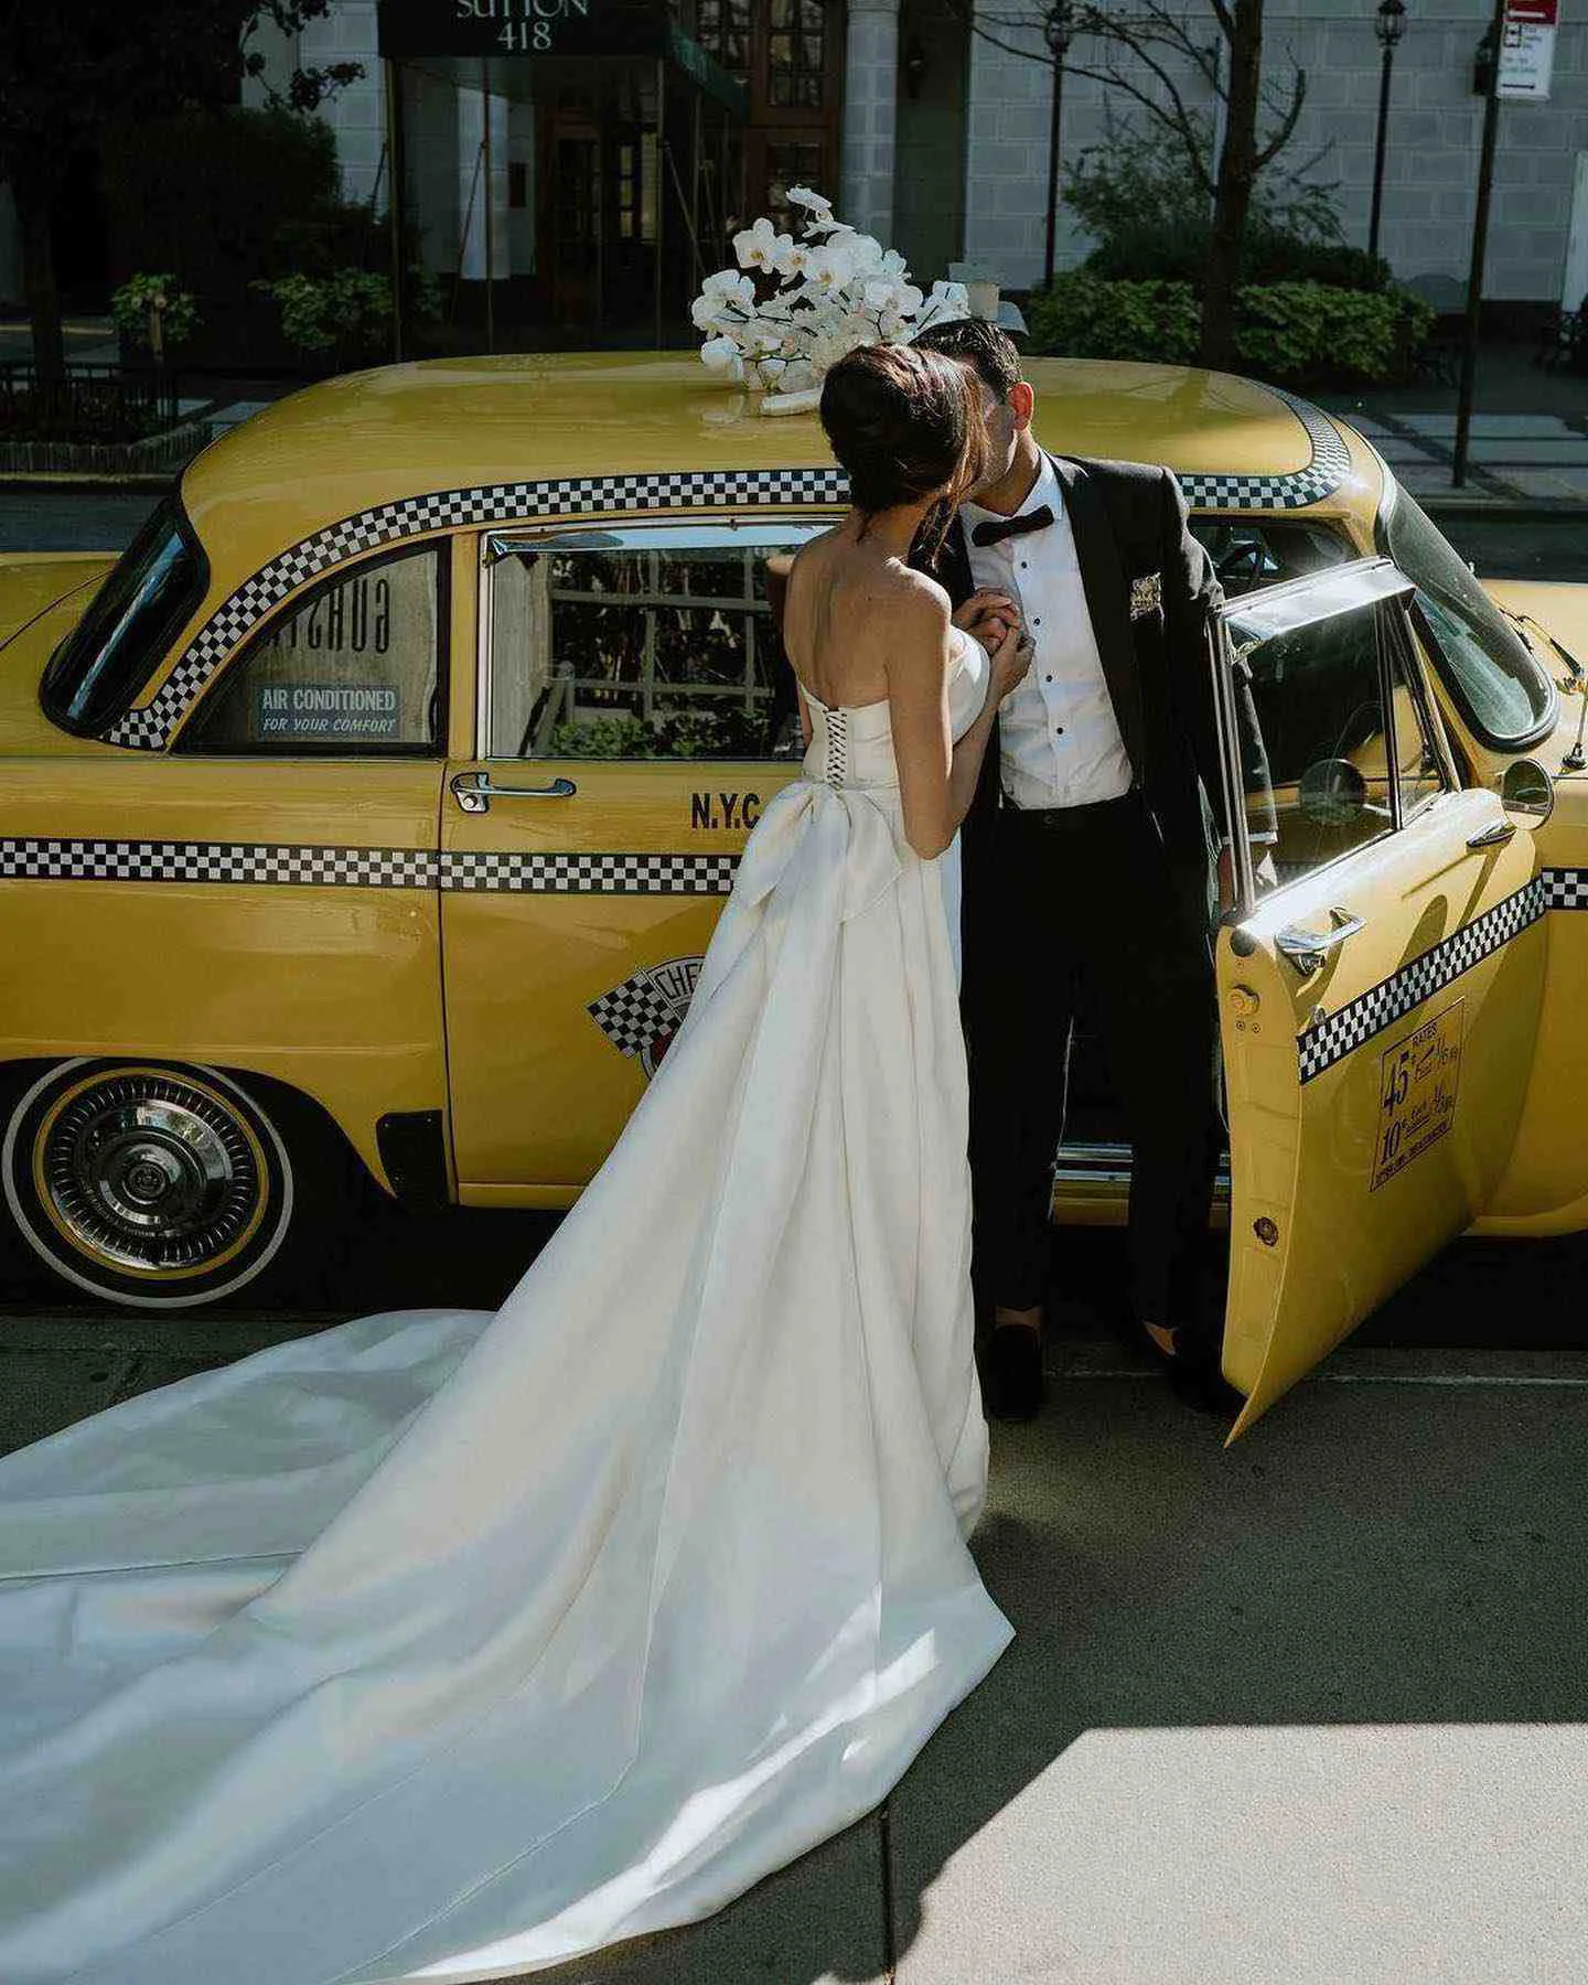
[[[798,238],[756,220],[732,238],[738,266],[707,276],[691,306],[709,371],[810,399],[856,345],[909,343],[929,324],[971,314],[965,284],[923,294],[901,254],[834,220],[832,200],[810,187],[790,187],[788,198],[806,214]]]

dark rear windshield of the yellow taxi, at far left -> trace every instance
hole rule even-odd
[[[206,584],[198,540],[167,496],[56,649],[40,685],[46,717],[66,730],[103,730],[149,681]]]

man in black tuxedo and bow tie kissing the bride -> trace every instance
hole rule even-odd
[[[973,633],[998,633],[1012,611],[1034,641],[963,830],[989,1403],[1004,1419],[1042,1403],[1052,1165],[1080,1004],[1129,1122],[1135,1322],[1187,1397],[1227,1409],[1237,1395],[1201,1286],[1221,1147],[1211,925],[1231,893],[1211,810],[1219,582],[1167,468],[1038,449],[1032,389],[1000,330],[969,318],[917,343],[971,367],[992,445],[937,578]]]

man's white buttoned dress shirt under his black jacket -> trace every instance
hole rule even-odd
[[[959,510],[971,578],[1018,599],[1036,643],[1036,659],[998,711],[998,774],[1012,806],[1092,806],[1129,792],[1131,764],[1092,631],[1064,490],[1046,455],[1020,512],[1042,504],[1054,514],[1046,530],[987,546],[975,542],[977,524],[1004,520],[975,502]]]

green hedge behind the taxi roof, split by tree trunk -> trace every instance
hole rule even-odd
[[[1189,282],[1102,282],[1090,270],[1056,278],[1026,310],[1034,351],[1169,365],[1195,357],[1199,316]],[[1258,379],[1382,381],[1403,375],[1431,326],[1429,306],[1399,292],[1245,284],[1237,292],[1235,351],[1241,371]]]

